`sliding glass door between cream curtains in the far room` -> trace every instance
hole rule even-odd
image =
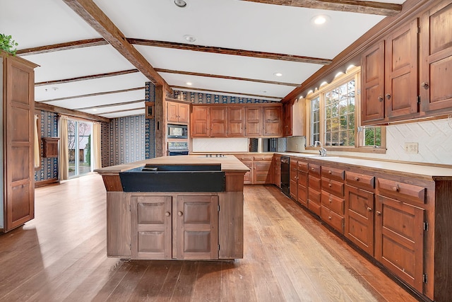
[[[93,124],[68,120],[69,178],[90,173]]]

